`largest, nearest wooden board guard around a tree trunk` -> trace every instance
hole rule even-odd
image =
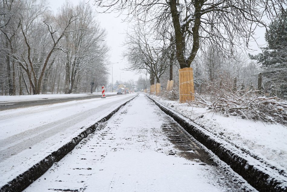
[[[194,100],[193,69],[179,69],[179,102]]]

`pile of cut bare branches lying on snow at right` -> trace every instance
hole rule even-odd
[[[240,116],[245,119],[287,125],[287,103],[277,97],[260,96],[256,92],[231,93],[213,88],[208,99],[195,93],[195,101],[191,102],[225,116]]]

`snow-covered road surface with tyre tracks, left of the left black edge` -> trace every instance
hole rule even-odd
[[[32,167],[78,135],[85,127],[94,124],[135,95],[0,111],[0,186]],[[27,96],[28,99],[31,99],[30,97],[33,96]]]

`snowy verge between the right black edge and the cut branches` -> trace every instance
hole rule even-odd
[[[152,97],[219,138],[257,157],[269,167],[275,167],[274,171],[287,177],[287,126],[255,122],[234,116],[223,117],[221,114],[208,111],[207,108]]]

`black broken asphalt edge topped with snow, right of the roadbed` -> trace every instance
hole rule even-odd
[[[176,111],[166,108],[150,96],[147,95],[147,97],[150,98],[163,112],[171,116],[189,134],[191,134],[192,137],[217,155],[221,161],[230,165],[237,174],[243,177],[256,190],[261,192],[287,191],[286,177],[272,171],[270,167],[266,167],[266,165],[257,161],[253,157],[251,157],[252,159],[244,158],[249,155],[236,147],[230,147],[227,141],[221,139],[219,141],[218,137],[215,137],[204,128],[198,126],[192,120],[177,114]]]

